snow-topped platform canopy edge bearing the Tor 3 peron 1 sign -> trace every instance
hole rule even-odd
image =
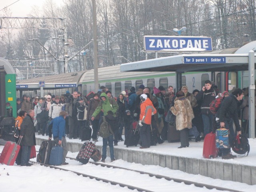
[[[120,71],[241,71],[248,70],[247,54],[181,54],[126,63]]]

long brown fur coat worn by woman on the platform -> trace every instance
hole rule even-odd
[[[170,108],[171,112],[176,116],[176,129],[192,128],[192,119],[194,113],[190,101],[184,96],[176,98],[174,106]]]

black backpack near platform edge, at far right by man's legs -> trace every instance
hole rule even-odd
[[[246,138],[246,136],[244,135],[237,135],[236,139],[234,140],[234,143],[232,144],[232,150],[237,153],[237,154],[249,154],[250,152],[250,145],[249,145],[249,141],[248,138]]]

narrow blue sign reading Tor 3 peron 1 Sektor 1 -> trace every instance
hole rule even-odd
[[[226,57],[184,57],[184,63],[226,63]]]

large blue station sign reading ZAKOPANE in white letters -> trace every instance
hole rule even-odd
[[[212,51],[212,38],[192,36],[144,36],[144,51]]]

